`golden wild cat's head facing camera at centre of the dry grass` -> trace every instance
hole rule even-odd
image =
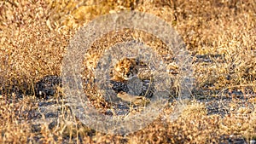
[[[139,69],[145,64],[136,58],[124,58],[113,66],[110,77],[113,81],[124,82],[137,77]]]

